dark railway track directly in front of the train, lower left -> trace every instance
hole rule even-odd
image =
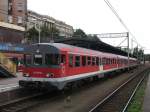
[[[46,102],[47,99],[56,99],[58,92],[41,92],[25,97],[17,98],[0,104],[0,112],[26,112],[28,108]]]

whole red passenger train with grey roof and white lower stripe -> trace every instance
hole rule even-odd
[[[24,79],[21,86],[54,86],[63,89],[68,83],[104,73],[134,67],[137,60],[61,43],[40,43],[26,48]]]

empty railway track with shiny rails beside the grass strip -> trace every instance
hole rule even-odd
[[[131,77],[111,94],[98,102],[89,112],[125,112],[140,84],[146,79],[149,70]]]

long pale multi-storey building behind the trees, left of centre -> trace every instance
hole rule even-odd
[[[28,24],[27,28],[30,29],[35,25],[47,26],[50,29],[56,28],[61,37],[71,37],[73,35],[73,27],[65,22],[56,20],[47,15],[41,15],[34,11],[28,10]]]

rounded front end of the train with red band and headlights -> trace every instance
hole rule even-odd
[[[19,85],[62,89],[59,79],[63,76],[63,58],[61,51],[52,45],[37,44],[27,47],[24,55],[24,79],[19,81]]]

